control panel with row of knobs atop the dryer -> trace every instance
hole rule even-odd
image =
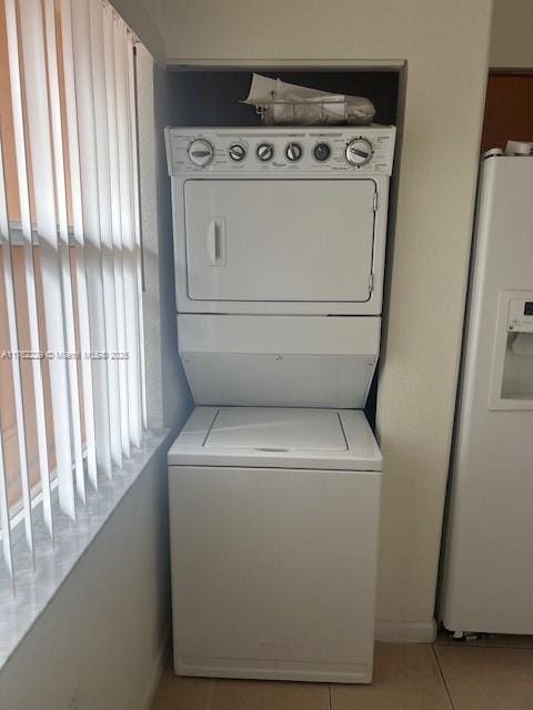
[[[165,131],[171,175],[285,174],[348,178],[363,171],[390,175],[394,126],[182,129]]]

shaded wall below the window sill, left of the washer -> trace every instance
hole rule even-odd
[[[0,672],[2,710],[148,710],[170,630],[165,452]]]

